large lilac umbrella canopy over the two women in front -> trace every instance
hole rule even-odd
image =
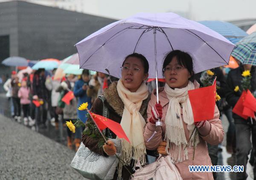
[[[76,44],[80,68],[102,73],[107,69],[117,78],[121,78],[118,68],[125,56],[134,52],[148,59],[148,78],[156,77],[156,69],[157,76],[163,78],[162,61],[172,50],[188,52],[198,73],[227,65],[234,46],[208,27],[174,13],[139,13],[105,26]]]

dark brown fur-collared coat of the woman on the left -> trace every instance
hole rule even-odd
[[[120,99],[120,97],[118,96],[116,85],[117,85],[117,82],[113,82],[108,87],[108,89],[105,90],[103,95],[106,98],[105,105],[108,105],[109,119],[112,119],[113,121],[120,123],[122,119],[122,113],[124,110],[124,104]],[[148,98],[143,101],[140,107],[140,113],[144,119],[147,119],[147,107],[148,107],[149,99],[150,99],[150,94],[148,95]],[[91,111],[93,113],[102,115],[102,109],[103,109],[102,100],[97,98],[91,107]],[[91,121],[91,119],[88,118],[87,121]],[[111,132],[111,134],[113,138],[116,138],[116,135],[113,132]],[[103,151],[103,148],[98,147],[98,140],[83,134],[82,142],[91,151],[94,151],[97,154],[100,154],[102,156],[107,156],[107,154],[105,154],[105,152]],[[132,171],[131,167],[128,167],[128,168],[132,173],[134,172]],[[122,177],[123,177],[123,180],[128,180],[130,177],[130,174],[128,173],[128,171],[126,171],[125,168],[122,169]],[[114,176],[114,180],[116,179],[117,179],[117,174],[115,174]]]

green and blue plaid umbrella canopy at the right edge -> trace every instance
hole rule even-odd
[[[256,32],[241,39],[232,52],[232,56],[242,64],[256,66]]]

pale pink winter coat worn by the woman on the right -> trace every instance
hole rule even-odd
[[[199,84],[195,81],[194,83],[195,88],[199,88]],[[155,95],[155,92],[151,94],[151,100],[148,103],[148,119],[147,119],[147,125],[145,127],[144,131],[144,139],[145,139],[145,146],[148,150],[156,150],[160,142],[163,141],[165,137],[165,118],[166,113],[169,106],[169,99],[167,98],[165,90],[162,88],[159,88],[159,101],[161,105],[163,106],[163,126],[162,128],[157,128],[157,134],[153,136],[153,138],[149,141],[148,139],[152,136],[154,131],[156,131],[156,126],[151,124],[149,122],[149,119],[151,118],[151,107],[155,105],[157,102],[157,97]],[[181,109],[182,112],[182,109]],[[208,154],[207,149],[207,142],[212,145],[218,145],[222,142],[224,137],[224,131],[223,127],[221,125],[221,120],[219,119],[219,110],[217,106],[215,105],[215,112],[214,112],[214,118],[210,119],[206,122],[204,127],[198,129],[198,132],[200,134],[200,142],[195,148],[195,157],[193,158],[193,147],[187,147],[188,150],[188,159],[184,160],[181,163],[176,163],[176,167],[180,172],[181,177],[183,180],[213,180],[212,173],[207,172],[189,172],[189,165],[212,165],[211,159]],[[183,120],[183,116],[181,116]],[[183,127],[186,135],[187,141],[189,140],[189,131],[187,129],[187,124],[183,121]]]

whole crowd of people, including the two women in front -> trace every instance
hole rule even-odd
[[[238,60],[237,62],[239,63]],[[131,144],[122,142],[125,149],[123,151],[125,163],[130,166],[122,168],[122,165],[119,165],[114,179],[122,174],[123,180],[128,180],[130,177],[128,170],[134,172],[134,165],[138,161],[142,164],[149,161],[149,157],[145,154],[155,156],[155,152],[170,154],[183,179],[216,179],[215,173],[192,173],[189,172],[188,166],[217,165],[218,145],[224,138],[221,119],[225,115],[229,122],[226,132],[226,150],[236,158],[236,165],[244,165],[244,172],[238,172],[236,176],[237,179],[245,179],[248,155],[252,149],[256,148],[254,136],[256,122],[242,119],[232,113],[232,107],[241,96],[241,92],[234,91],[234,88],[241,87],[241,73],[244,70],[250,71],[252,76],[250,91],[255,94],[255,67],[239,63],[236,69],[228,67],[212,69],[211,71],[217,77],[217,85],[220,87],[217,93],[221,96],[221,101],[216,102],[213,119],[198,123],[193,121],[187,94],[188,90],[202,86],[204,79],[207,78],[207,72],[195,74],[192,57],[179,50],[166,55],[162,69],[165,83],[160,83],[159,103],[157,103],[154,89],[155,81],[147,82],[148,61],[143,55],[137,53],[128,55],[123,61],[120,79],[109,77],[104,73],[90,75],[89,70],[83,70],[81,76],[67,74],[62,79],[54,80],[55,70],[49,73],[44,69],[36,70],[30,75],[24,74],[24,77],[19,79],[13,71],[4,88],[7,91],[6,96],[12,101],[13,118],[31,127],[37,123],[40,128],[46,128],[48,112],[51,117],[49,124],[56,128],[60,118],[62,122],[75,121],[77,118],[84,123],[90,122],[91,119],[87,120],[85,111],[78,110],[84,102],[88,102],[88,109],[93,113],[102,116],[104,115],[102,108],[108,107],[109,119],[120,123],[125,132],[130,132],[127,136],[131,141]],[[73,91],[75,98],[66,104],[61,99],[69,91]],[[106,99],[105,104],[97,98],[101,95]],[[36,107],[34,100],[40,101],[40,107]],[[21,110],[23,118],[21,118]],[[163,122],[162,127],[155,125],[157,119]],[[198,129],[199,134],[193,134],[194,128]],[[77,151],[82,141],[91,151],[102,156],[107,157],[116,153],[116,147],[111,140],[99,148],[99,141],[88,134],[82,135],[82,131],[83,128],[76,128],[73,137],[72,132],[67,128],[69,148],[72,148],[74,141]],[[116,138],[112,131],[109,131],[106,136]],[[180,137],[178,142],[177,136]],[[191,136],[192,138],[189,138]],[[187,144],[189,146],[184,148]],[[194,154],[193,148],[195,148]],[[145,151],[140,151],[141,149]],[[254,152],[256,153],[252,151],[250,155],[253,159],[250,163],[255,167]],[[254,177],[256,177],[256,171]]]

